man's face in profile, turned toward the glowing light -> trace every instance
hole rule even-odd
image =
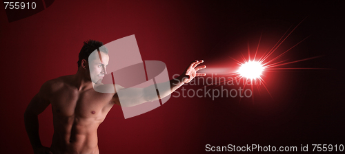
[[[101,60],[99,58],[101,54]],[[106,67],[109,63],[109,55],[104,52],[94,52],[90,56],[93,57],[92,61],[89,61],[90,77],[92,83],[101,84],[103,76],[106,75]]]

